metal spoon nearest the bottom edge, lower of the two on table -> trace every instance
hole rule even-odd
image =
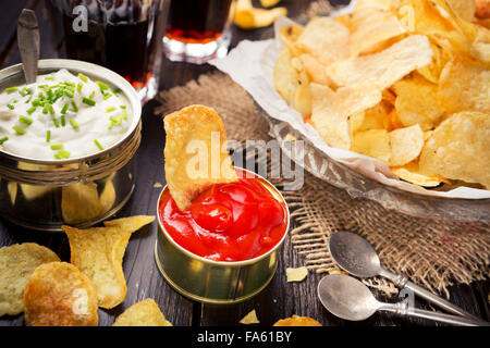
[[[345,274],[324,276],[318,284],[318,297],[329,312],[352,321],[368,319],[377,311],[387,311],[403,316],[425,318],[454,325],[490,325],[473,319],[411,308],[408,307],[408,301],[397,303],[379,302],[366,285]]]

